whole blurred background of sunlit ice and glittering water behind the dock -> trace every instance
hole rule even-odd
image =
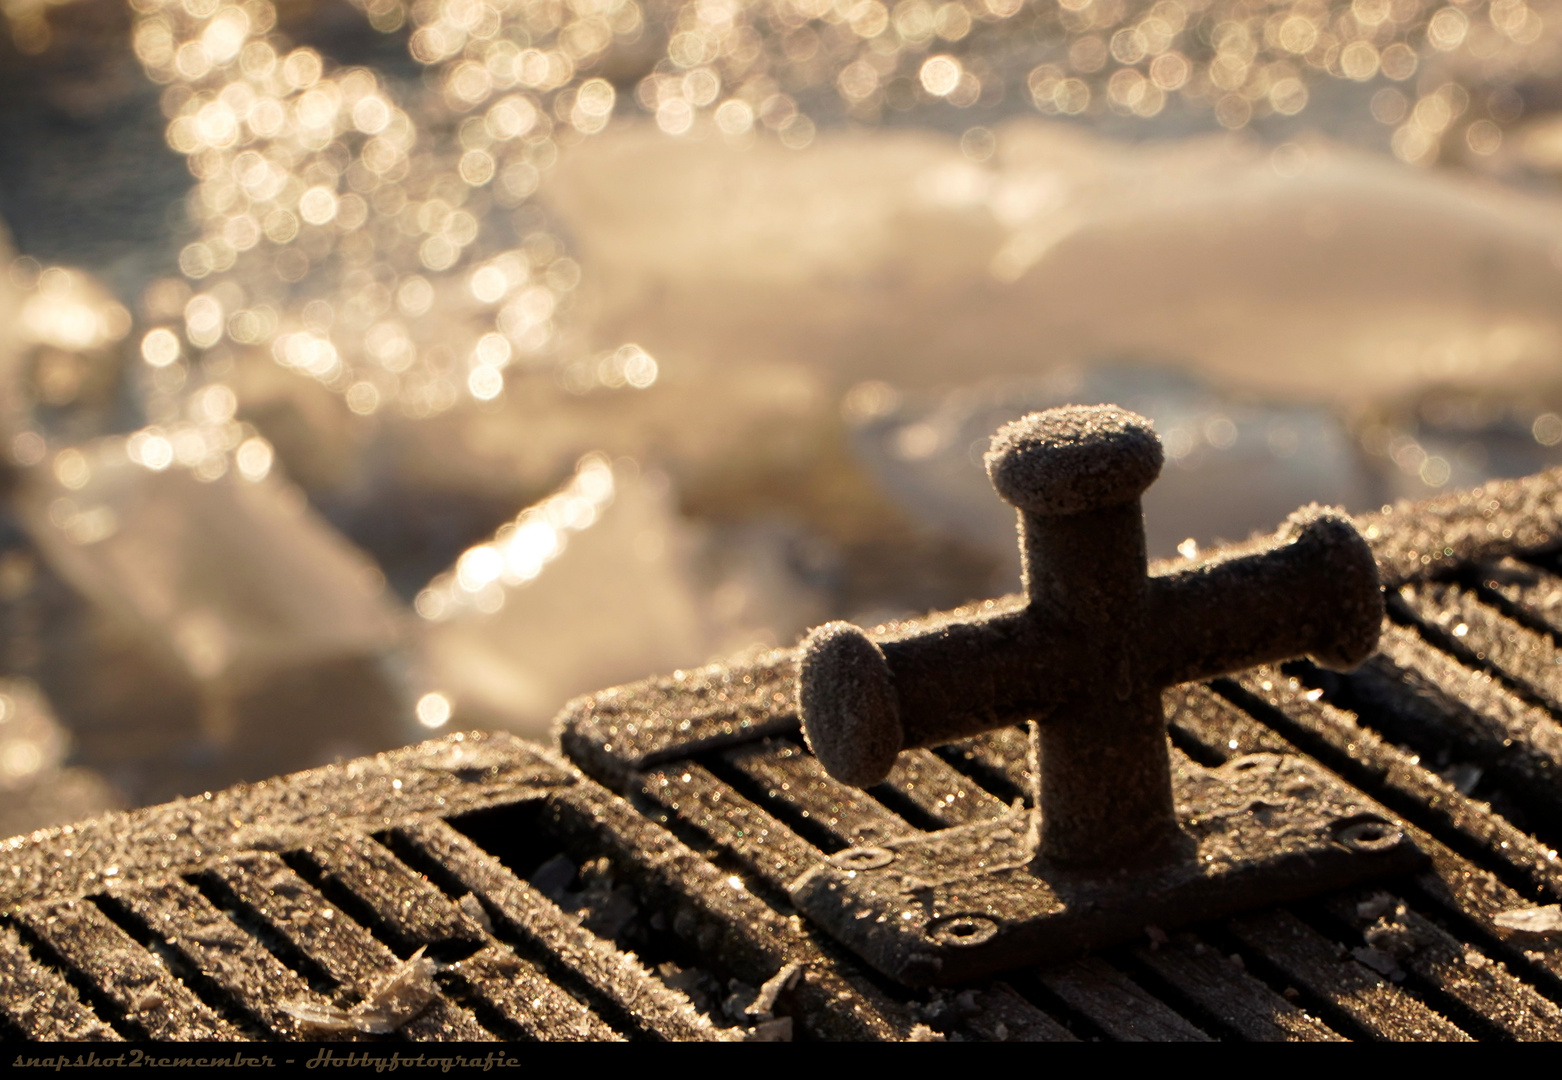
[[[0,835],[1562,461],[1556,0],[0,0]]]

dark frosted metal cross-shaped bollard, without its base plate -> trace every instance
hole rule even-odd
[[[798,702],[825,769],[868,786],[901,750],[1034,719],[1045,858],[1098,866],[1170,844],[1161,691],[1301,655],[1354,667],[1384,608],[1367,542],[1318,506],[1267,541],[1150,577],[1139,497],[1162,460],[1150,422],[1115,406],[1003,427],[987,475],[1018,510],[1023,597],[909,635],[814,630]]]

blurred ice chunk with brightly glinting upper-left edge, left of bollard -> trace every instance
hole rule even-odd
[[[589,511],[570,505],[583,478],[598,489]],[[542,735],[576,694],[790,642],[825,611],[789,558],[797,539],[687,522],[662,474],[592,455],[419,595],[423,681],[458,724]],[[442,725],[450,713],[425,700]]]

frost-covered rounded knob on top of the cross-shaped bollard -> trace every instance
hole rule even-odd
[[[1067,405],[1004,424],[986,461],[1004,502],[1061,517],[1137,499],[1161,475],[1165,455],[1137,413]]]

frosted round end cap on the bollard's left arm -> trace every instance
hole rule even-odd
[[[895,680],[883,650],[850,622],[803,639],[798,672],[803,738],[825,771],[854,788],[884,780],[904,742]]]

